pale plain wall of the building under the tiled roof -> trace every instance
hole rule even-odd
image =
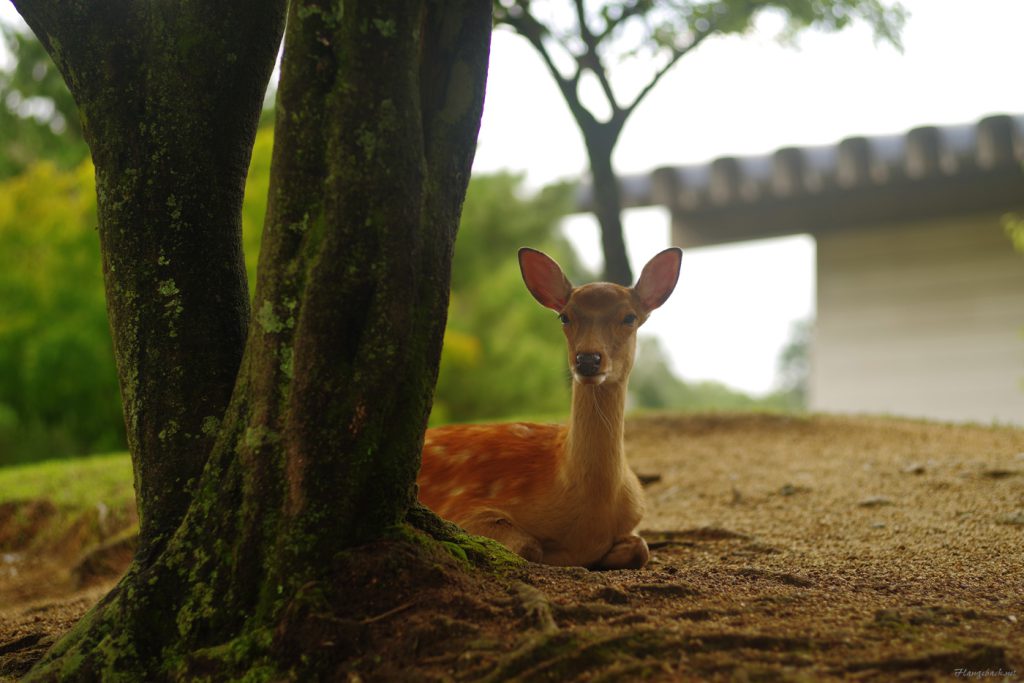
[[[1024,255],[997,214],[817,239],[811,408],[1024,423]]]

